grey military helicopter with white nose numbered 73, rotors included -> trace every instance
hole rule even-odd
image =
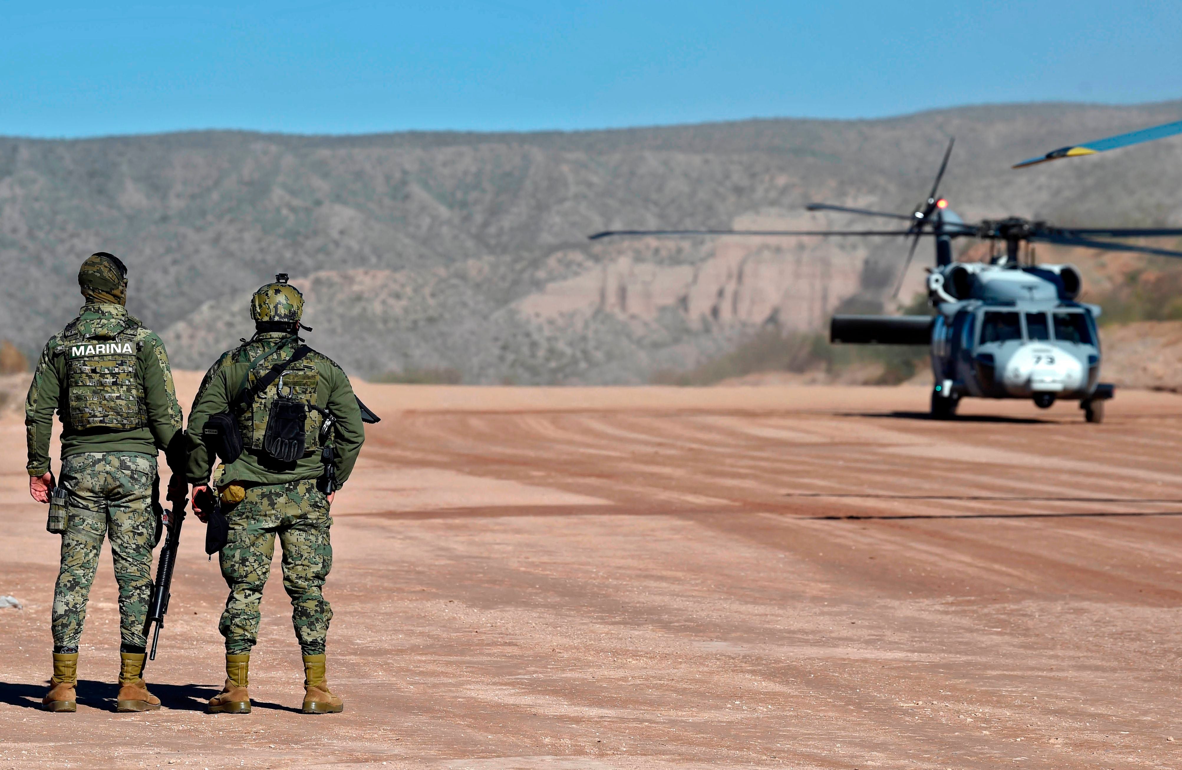
[[[911,240],[903,276],[924,237],[935,241],[935,267],[927,279],[934,316],[833,316],[830,339],[852,344],[930,345],[935,384],[930,410],[934,419],[956,414],[960,400],[1032,399],[1040,408],[1057,400],[1079,401],[1087,422],[1104,420],[1104,402],[1113,386],[1099,382],[1100,341],[1097,305],[1077,302],[1083,280],[1071,265],[1039,265],[1032,244],[1046,242],[1104,251],[1129,251],[1167,257],[1182,252],[1123,244],[1106,238],[1180,237],[1182,228],[1067,228],[1018,216],[963,221],[939,196],[955,140],[948,142],[943,161],[927,200],[911,214],[808,203],[808,211],[831,211],[908,222],[905,229],[882,231],[734,231],[664,229],[606,231],[591,239],[626,235],[821,235],[900,237]],[[976,238],[993,244],[988,263],[953,259],[955,238]],[[998,245],[1005,245],[999,250]],[[1024,250],[1022,244],[1027,247]]]

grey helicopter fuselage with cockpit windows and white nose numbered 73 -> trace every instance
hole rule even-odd
[[[1078,276],[1067,270],[955,264],[933,272],[937,390],[946,397],[1047,403],[1091,399],[1099,377],[1099,309],[1070,298],[1078,283],[1072,291],[1064,284]]]

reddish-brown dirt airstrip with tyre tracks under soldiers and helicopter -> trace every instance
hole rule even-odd
[[[104,556],[79,710],[38,711],[58,539],[0,421],[0,768],[1182,766],[1180,396],[1093,426],[934,422],[907,387],[359,392],[385,420],[333,510],[338,716],[298,713],[278,565],[254,712],[203,713],[225,584],[191,517],[165,708],[113,713]]]

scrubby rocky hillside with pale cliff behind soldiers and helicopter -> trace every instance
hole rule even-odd
[[[307,293],[309,339],[362,376],[643,382],[872,303],[903,248],[591,232],[855,224],[801,211],[818,199],[910,211],[950,135],[943,192],[966,218],[1182,225],[1178,141],[1008,168],[1180,117],[1182,103],[1024,105],[576,134],[0,138],[0,337],[34,352],[77,309],[79,261],[106,250],[182,367],[247,334],[249,291],[285,271]]]

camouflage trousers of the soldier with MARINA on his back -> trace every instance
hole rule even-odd
[[[87,452],[61,461],[58,481],[69,492],[61,535],[61,569],[53,590],[53,646],[78,646],[86,598],[98,571],[103,538],[111,541],[119,585],[119,635],[124,647],[144,646],[156,545],[152,490],[156,458],[138,452]]]

